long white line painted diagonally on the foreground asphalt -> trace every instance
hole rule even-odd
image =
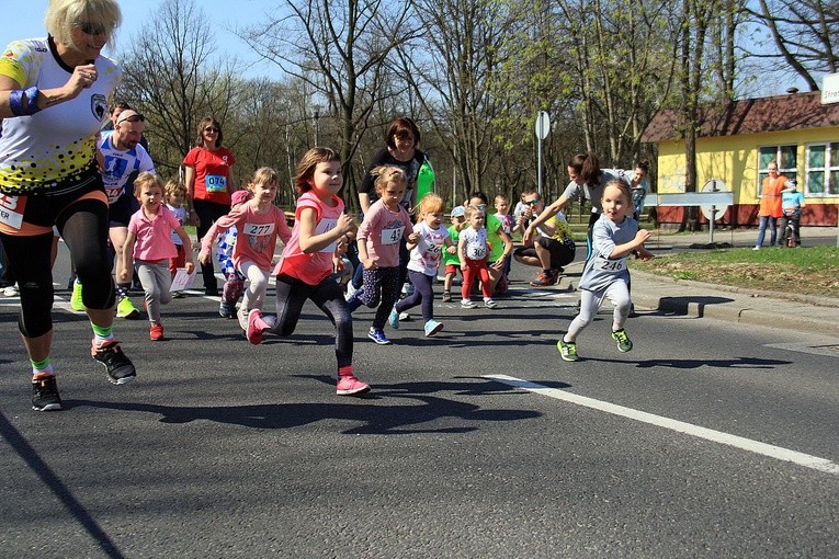
[[[514,388],[520,388],[529,392],[547,396],[548,398],[563,400],[569,403],[575,403],[577,406],[582,406],[592,410],[604,411],[606,413],[612,413],[614,415],[620,415],[622,418],[627,418],[634,421],[640,421],[642,423],[648,423],[650,425],[669,429],[679,433],[684,433],[699,438],[704,438],[706,441],[712,441],[714,443],[734,446],[750,453],[769,456],[770,458],[791,461],[793,464],[797,464],[798,466],[804,466],[805,468],[824,471],[825,474],[832,474],[835,476],[839,475],[838,464],[826,458],[819,458],[818,456],[810,456],[808,454],[800,453],[796,450],[790,450],[789,448],[761,443],[759,441],[752,441],[750,438],[732,435],[729,433],[723,433],[722,431],[714,431],[712,429],[701,427],[699,425],[693,425],[683,421],[662,418],[661,415],[654,415],[653,413],[634,410],[632,408],[624,408],[623,406],[616,406],[614,403],[596,400],[593,398],[587,398],[585,396],[566,392],[565,390],[559,390],[557,388],[548,388],[536,383],[522,380],[520,378],[507,375],[484,375],[484,378],[497,380]]]

